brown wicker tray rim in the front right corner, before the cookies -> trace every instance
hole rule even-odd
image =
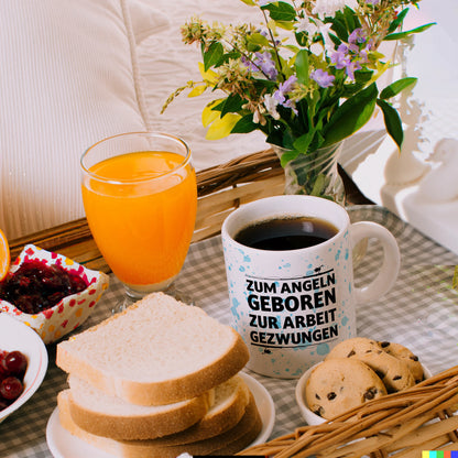
[[[321,425],[238,455],[275,458],[421,458],[423,450],[458,450],[458,366],[412,389],[368,402]]]

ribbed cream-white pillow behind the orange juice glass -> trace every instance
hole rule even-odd
[[[132,4],[0,2],[0,228],[9,239],[83,217],[84,151],[149,128]],[[141,40],[144,18],[131,11]]]

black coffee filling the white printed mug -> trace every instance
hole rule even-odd
[[[329,240],[338,229],[329,221],[306,216],[272,218],[241,229],[235,240],[259,250],[297,250]]]

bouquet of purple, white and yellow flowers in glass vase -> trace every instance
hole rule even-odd
[[[393,63],[379,46],[433,24],[402,30],[408,6],[418,0],[241,0],[260,10],[260,25],[208,24],[193,18],[182,28],[183,41],[198,43],[203,79],[183,90],[195,97],[221,94],[204,108],[207,139],[260,130],[290,171],[295,193],[329,194],[329,170],[339,143],[364,126],[375,106],[388,133],[401,148],[402,122],[390,100],[412,87],[405,77],[380,89],[378,78]]]

